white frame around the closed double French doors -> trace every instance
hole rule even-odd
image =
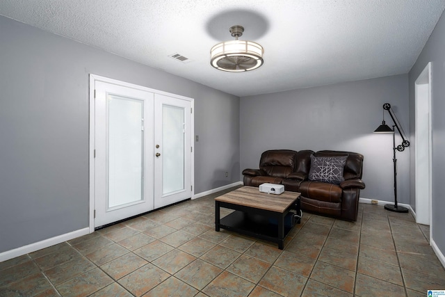
[[[181,95],[176,95],[172,93],[166,93],[161,90],[154,90],[152,88],[146,88],[144,86],[138,86],[133,83],[126,83],[124,81],[118,81],[116,79],[110,79],[108,77],[102,77],[96,74],[90,74],[90,149],[89,149],[89,168],[90,168],[90,211],[89,211],[89,229],[90,233],[95,231],[95,82],[96,81],[103,81],[105,83],[114,83],[118,86],[124,86],[127,88],[135,88],[137,90],[144,90],[147,92],[155,93],[155,94],[161,94],[166,96],[172,96],[177,97],[178,99],[184,99],[191,102],[191,108],[192,111],[194,110],[194,99],[190,97],[184,97]],[[192,154],[191,154],[191,184],[192,186],[195,184],[195,147],[194,147],[194,135],[195,135],[195,117],[194,113],[192,113],[191,117],[191,147],[192,147]],[[195,195],[195,189],[193,187],[193,190],[191,191],[191,199],[193,199],[193,196]]]

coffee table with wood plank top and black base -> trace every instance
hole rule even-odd
[[[280,195],[261,193],[259,188],[243,186],[215,198],[215,230],[220,228],[278,243],[284,248],[284,239],[293,224],[285,218],[291,209],[300,214],[300,193],[284,191]],[[234,209],[220,219],[220,207]],[[300,223],[300,220],[297,221]]]

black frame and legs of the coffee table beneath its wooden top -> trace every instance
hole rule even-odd
[[[234,209],[235,211],[221,219],[220,207]],[[223,228],[272,241],[278,243],[278,248],[282,250],[284,239],[293,227],[293,225],[286,226],[284,220],[293,209],[300,216],[300,197],[296,198],[295,202],[282,213],[215,200],[215,231],[219,232],[220,228]],[[270,219],[276,220],[277,224],[271,223]],[[298,217],[296,223],[299,224],[300,221],[301,218]]]

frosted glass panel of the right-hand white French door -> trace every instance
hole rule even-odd
[[[184,108],[162,106],[163,195],[184,190]]]

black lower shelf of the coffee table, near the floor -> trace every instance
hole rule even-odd
[[[271,218],[243,211],[234,211],[221,218],[219,226],[216,227],[278,243],[280,249],[283,249],[284,238],[292,229],[291,226],[284,225],[284,236],[280,238],[277,220],[274,222]]]

